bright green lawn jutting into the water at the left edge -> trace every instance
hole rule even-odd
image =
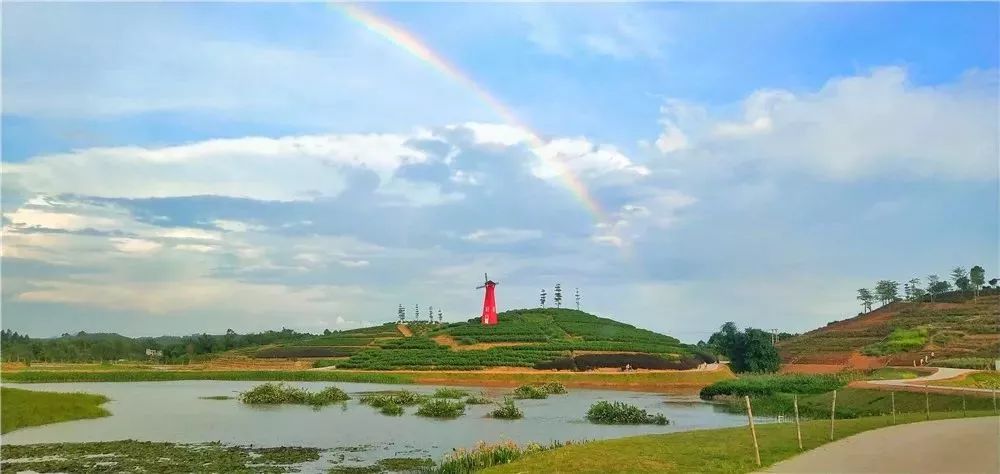
[[[0,388],[0,432],[108,416],[111,413],[101,408],[107,401],[103,395],[89,393],[34,392],[3,387]]]

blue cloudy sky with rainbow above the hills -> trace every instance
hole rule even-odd
[[[22,4],[2,326],[806,331],[998,262],[998,5]]]

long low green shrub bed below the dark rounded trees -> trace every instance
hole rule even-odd
[[[715,382],[701,389],[699,395],[704,400],[711,400],[717,395],[757,397],[775,393],[825,393],[844,385],[844,378],[829,374],[746,375]]]

